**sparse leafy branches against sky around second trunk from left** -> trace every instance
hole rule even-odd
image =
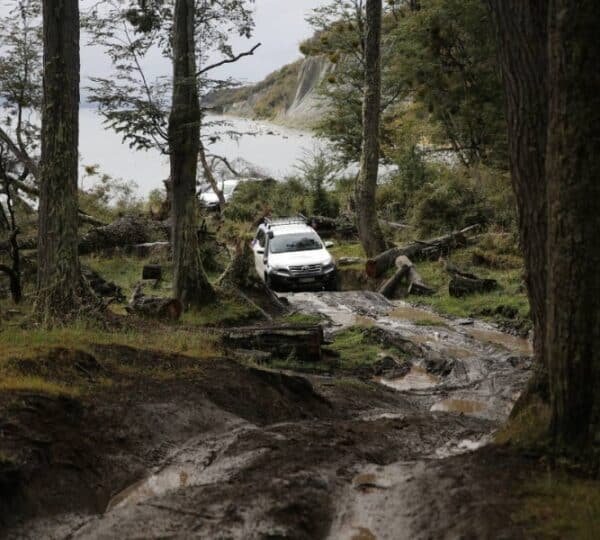
[[[144,71],[148,56],[156,50],[172,57],[172,4],[160,0],[140,7],[121,1],[99,2],[82,17],[90,41],[102,47],[111,59],[110,77],[92,77],[89,101],[98,106],[106,126],[120,134],[132,148],[168,147],[168,114],[174,81],[150,78]],[[236,56],[230,40],[234,35],[250,38],[253,0],[195,2],[196,66],[200,95],[229,80],[210,76],[215,59],[230,61]],[[200,125],[198,125],[200,129]]]

